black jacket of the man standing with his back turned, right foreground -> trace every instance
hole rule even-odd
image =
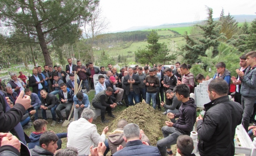
[[[241,124],[243,108],[228,96],[205,104],[203,120],[197,122],[198,149],[201,156],[235,154],[235,128]]]

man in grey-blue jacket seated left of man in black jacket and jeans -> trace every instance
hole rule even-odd
[[[35,121],[36,121],[38,119],[38,109],[41,106],[41,101],[40,101],[39,97],[37,96],[37,94],[32,93],[30,91],[30,89],[28,89],[28,88],[25,89],[25,94],[27,96],[30,96],[30,99],[31,99],[31,104],[30,104],[30,107],[29,107],[28,111],[36,110],[36,113],[34,114]]]

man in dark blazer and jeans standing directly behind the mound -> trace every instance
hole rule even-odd
[[[125,94],[128,97],[129,105],[134,105],[133,98],[135,100],[135,103],[140,102],[139,93],[140,93],[140,78],[138,75],[133,74],[132,67],[128,68],[128,75],[124,76],[124,84],[126,86],[125,88]]]

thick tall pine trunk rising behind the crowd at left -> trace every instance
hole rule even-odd
[[[29,7],[30,7],[30,10],[32,13],[32,18],[35,21],[37,37],[39,40],[39,45],[40,45],[43,55],[44,55],[45,64],[47,64],[48,66],[51,66],[51,65],[53,65],[53,62],[51,61],[51,57],[50,57],[49,51],[47,49],[47,45],[46,45],[43,30],[41,27],[41,23],[38,20],[37,12],[35,9],[36,7],[34,5],[34,0],[29,0]]]

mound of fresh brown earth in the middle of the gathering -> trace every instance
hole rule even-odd
[[[156,146],[157,141],[163,138],[161,128],[165,125],[165,121],[169,121],[166,115],[157,114],[152,106],[140,102],[123,110],[111,123],[108,132],[113,132],[117,128],[117,122],[121,119],[139,125],[140,129],[148,136],[152,146]]]

